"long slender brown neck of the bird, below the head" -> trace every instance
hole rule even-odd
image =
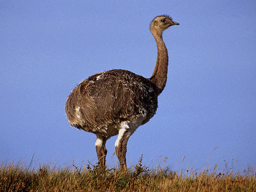
[[[153,82],[159,88],[159,94],[163,91],[167,81],[168,71],[168,53],[165,44],[162,40],[162,35],[152,32],[158,47],[157,63],[155,65],[154,72],[150,77],[150,81]]]

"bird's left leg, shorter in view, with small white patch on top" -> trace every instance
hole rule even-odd
[[[106,166],[106,155],[107,155],[107,149],[105,147],[107,138],[102,137],[100,135],[96,135],[97,139],[95,142],[97,157],[98,157],[98,164],[101,167]]]

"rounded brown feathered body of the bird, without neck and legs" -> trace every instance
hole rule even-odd
[[[118,134],[122,122],[152,118],[158,107],[156,87],[149,79],[128,70],[97,73],[81,82],[68,96],[69,124],[95,134]]]

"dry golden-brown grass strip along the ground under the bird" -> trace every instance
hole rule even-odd
[[[138,164],[127,171],[103,169],[90,162],[83,168],[31,168],[22,163],[0,164],[0,192],[256,192],[256,169],[233,173],[167,168],[150,170]]]

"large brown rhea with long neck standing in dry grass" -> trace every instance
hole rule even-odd
[[[168,54],[162,32],[179,25],[168,15],[157,16],[150,25],[158,49],[150,78],[114,69],[90,76],[67,97],[65,112],[71,126],[96,134],[98,164],[106,165],[106,141],[118,134],[115,151],[121,169],[127,169],[127,142],[132,133],[156,113],[158,96],[167,80]]]

